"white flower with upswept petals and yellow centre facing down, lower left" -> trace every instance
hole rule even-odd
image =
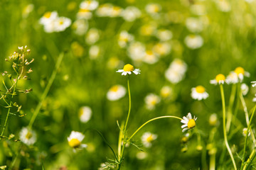
[[[73,147],[73,151],[75,152],[75,149],[82,149],[87,147],[87,145],[82,144],[82,140],[85,138],[85,135],[82,135],[81,132],[75,132],[72,131],[70,133],[70,136],[68,137],[68,145],[70,147]]]

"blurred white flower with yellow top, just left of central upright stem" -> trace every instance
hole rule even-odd
[[[121,86],[119,84],[114,85],[110,88],[109,91],[107,91],[107,99],[110,101],[117,101],[120,98],[124,97],[126,94],[126,89],[124,86]]]

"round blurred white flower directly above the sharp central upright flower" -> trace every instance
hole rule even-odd
[[[142,42],[131,42],[127,49],[128,56],[134,60],[142,60],[146,52],[146,47]]]

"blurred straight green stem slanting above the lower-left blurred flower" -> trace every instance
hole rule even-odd
[[[55,64],[55,69],[53,70],[53,73],[50,76],[50,80],[48,81],[46,89],[43,91],[43,94],[42,94],[42,96],[40,98],[40,102],[38,103],[38,106],[36,106],[36,110],[35,110],[35,112],[32,115],[32,118],[31,118],[31,120],[30,120],[30,122],[28,124],[28,128],[32,128],[32,125],[33,125],[34,121],[36,120],[36,117],[37,117],[37,115],[38,115],[38,113],[39,113],[39,111],[41,109],[43,101],[45,100],[45,98],[46,98],[46,96],[47,96],[47,94],[48,94],[48,92],[50,90],[50,86],[53,84],[53,80],[56,77],[56,74],[58,72],[58,68],[60,67],[60,63],[63,60],[63,56],[64,56],[64,53],[61,53],[59,55],[59,57],[58,57],[58,60],[57,60],[57,62]]]

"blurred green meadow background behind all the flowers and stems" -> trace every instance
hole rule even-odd
[[[218,0],[216,0],[218,1]],[[255,80],[255,1],[248,3],[243,0],[228,1],[230,11],[220,11],[216,1],[99,1],[100,4],[111,3],[122,8],[137,6],[142,11],[142,16],[133,22],[124,21],[122,18],[97,17],[94,15],[88,20],[89,28],[100,30],[100,40],[96,42],[100,47],[100,55],[95,60],[90,59],[88,51],[90,45],[85,42],[85,35],[75,35],[73,28],[67,28],[60,33],[45,33],[39,19],[46,11],[58,11],[59,16],[76,19],[81,1],[0,1],[0,69],[1,72],[9,70],[10,65],[4,61],[12,52],[18,50],[18,46],[28,45],[31,49],[29,57],[34,58],[31,64],[33,73],[30,81],[24,81],[21,86],[33,88],[28,95],[16,97],[17,103],[21,103],[26,116],[18,118],[11,116],[6,129],[6,135],[13,133],[18,139],[21,128],[28,125],[36,108],[43,90],[53,72],[55,62],[60,52],[65,52],[63,62],[58,69],[57,76],[51,86],[48,96],[43,101],[41,112],[36,118],[33,130],[37,133],[37,142],[32,147],[2,140],[0,145],[0,165],[9,166],[14,162],[14,156],[18,147],[18,153],[14,169],[97,169],[102,162],[112,157],[110,149],[97,135],[97,132],[88,129],[96,129],[102,132],[112,147],[117,150],[119,128],[117,120],[122,122],[127,116],[128,96],[119,101],[108,101],[107,91],[115,84],[126,86],[127,77],[116,73],[126,63],[134,64],[142,70],[138,76],[130,77],[132,91],[132,113],[129,120],[129,133],[136,130],[146,120],[160,115],[176,115],[182,117],[188,112],[196,115],[198,130],[201,132],[203,150],[197,151],[198,140],[193,135],[188,142],[188,151],[181,152],[181,123],[178,120],[158,120],[146,126],[134,138],[137,144],[141,144],[140,137],[143,132],[150,131],[158,135],[151,148],[143,148],[148,154],[146,159],[137,159],[139,150],[130,146],[125,153],[123,169],[208,169],[209,156],[206,150],[208,137],[212,126],[208,119],[210,114],[217,113],[220,125],[217,126],[214,143],[217,146],[216,166],[220,165],[220,154],[223,151],[223,133],[221,126],[222,108],[218,86],[209,83],[216,74],[227,75],[235,67],[243,67],[250,72],[250,78],[245,83]],[[74,8],[68,8],[73,3]],[[152,18],[145,12],[145,6],[149,3],[158,3],[162,6],[159,18]],[[23,9],[33,4],[34,8],[27,17],[23,16]],[[200,35],[203,37],[203,46],[191,50],[184,44],[184,38],[190,32],[186,28],[185,21],[188,17],[198,17],[191,11],[191,6],[201,4],[208,18],[208,24]],[[169,16],[166,19],[164,16]],[[162,56],[155,64],[133,61],[127,55],[127,50],[117,44],[117,38],[121,30],[128,30],[136,40],[149,46],[158,42],[154,36],[141,35],[139,28],[150,22],[156,23],[157,28],[171,30],[171,52]],[[75,55],[72,48],[73,42],[78,42],[82,47],[82,55]],[[110,59],[117,58],[117,65],[109,67]],[[186,77],[178,84],[171,84],[164,73],[169,64],[180,58],[188,65]],[[149,93],[158,94],[162,86],[173,88],[171,100],[161,100],[154,111],[146,110],[144,97]],[[209,98],[206,101],[195,101],[191,98],[191,88],[203,85],[208,91]],[[225,85],[226,100],[230,95],[230,86]],[[255,91],[245,97],[250,110],[254,106],[252,98]],[[78,111],[81,106],[92,108],[92,118],[88,123],[81,123]],[[1,125],[6,117],[6,108],[1,108]],[[246,125],[242,107],[240,106],[238,118],[242,125]],[[233,124],[233,127],[236,125]],[[87,149],[78,153],[68,146],[67,137],[72,130],[85,134],[83,143]],[[242,127],[230,138],[230,146],[242,150],[244,138]],[[237,162],[238,157],[235,156]],[[225,154],[225,166],[232,167],[228,154]]]

